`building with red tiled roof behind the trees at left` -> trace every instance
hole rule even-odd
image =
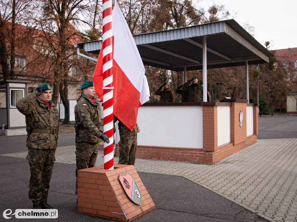
[[[11,29],[11,23],[7,22],[5,25],[7,25],[7,30]],[[69,26],[66,32],[70,30],[72,33],[76,31],[73,26]],[[42,83],[49,83],[53,87],[54,63],[50,59],[53,56],[53,52],[50,52],[50,47],[45,36],[52,38],[54,40],[53,44],[57,44],[58,40],[55,41],[57,35],[43,33],[41,30],[18,24],[16,24],[15,32],[15,79],[31,81],[31,83],[28,83],[27,93],[30,93]],[[73,36],[73,39],[69,40],[70,45],[82,41],[78,35]],[[9,48],[10,42],[7,41],[8,53],[10,53]],[[72,49],[75,50],[74,48]],[[10,54],[8,54],[8,57],[10,57]],[[70,60],[71,57],[69,57],[69,62]],[[77,72],[75,66],[70,67],[68,72],[68,99],[77,99],[78,94],[80,95],[81,79]],[[3,78],[2,67],[0,65],[0,81]],[[5,89],[0,89],[0,102],[4,100],[4,97]],[[61,103],[60,96],[58,103]]]

